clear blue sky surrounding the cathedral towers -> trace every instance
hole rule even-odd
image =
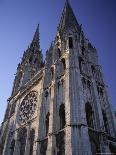
[[[43,53],[54,40],[65,0],[0,0],[0,122],[11,95],[14,74],[37,24]],[[86,37],[98,50],[116,109],[116,0],[70,0]]]

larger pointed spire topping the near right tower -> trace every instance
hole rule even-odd
[[[63,31],[65,28],[72,25],[79,26],[76,17],[74,15],[74,12],[71,8],[70,2],[69,0],[66,0],[58,30]]]

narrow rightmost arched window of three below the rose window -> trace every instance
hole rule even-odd
[[[30,152],[29,152],[29,155],[33,155],[33,143],[34,143],[34,139],[35,139],[35,130],[32,129],[30,131]]]

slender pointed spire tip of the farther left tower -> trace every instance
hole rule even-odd
[[[39,24],[37,25],[32,44],[36,44],[38,48],[40,49],[40,35],[39,35]]]

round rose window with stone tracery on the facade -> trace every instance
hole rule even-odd
[[[19,121],[25,123],[30,120],[36,110],[37,106],[37,92],[32,91],[27,94],[19,107]]]

